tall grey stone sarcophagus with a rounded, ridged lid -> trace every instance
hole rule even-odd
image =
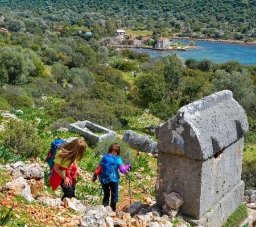
[[[221,227],[243,201],[245,111],[224,90],[180,108],[158,132],[156,202],[177,192],[193,224]]]

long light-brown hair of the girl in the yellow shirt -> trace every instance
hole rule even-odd
[[[62,152],[58,155],[59,158],[62,158],[63,162],[68,162],[69,166],[76,160],[80,161],[84,157],[87,144],[81,138],[76,138],[71,142],[65,142],[61,146]]]

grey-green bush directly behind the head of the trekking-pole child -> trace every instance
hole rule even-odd
[[[123,160],[123,163],[133,163],[133,152],[131,152],[129,149],[129,145],[127,145],[125,141],[122,141],[118,138],[116,140],[104,140],[98,142],[94,151],[101,155],[108,154],[109,147],[111,144],[113,144],[113,142],[118,142],[120,145],[120,156]]]

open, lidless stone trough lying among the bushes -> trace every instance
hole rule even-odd
[[[114,131],[87,120],[69,124],[68,130],[81,134],[90,145],[96,145],[97,142],[102,140],[114,140],[116,138]]]

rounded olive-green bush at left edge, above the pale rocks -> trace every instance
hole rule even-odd
[[[4,128],[1,144],[10,148],[10,152],[21,158],[38,157],[43,149],[43,142],[34,125],[10,119],[4,124]]]

